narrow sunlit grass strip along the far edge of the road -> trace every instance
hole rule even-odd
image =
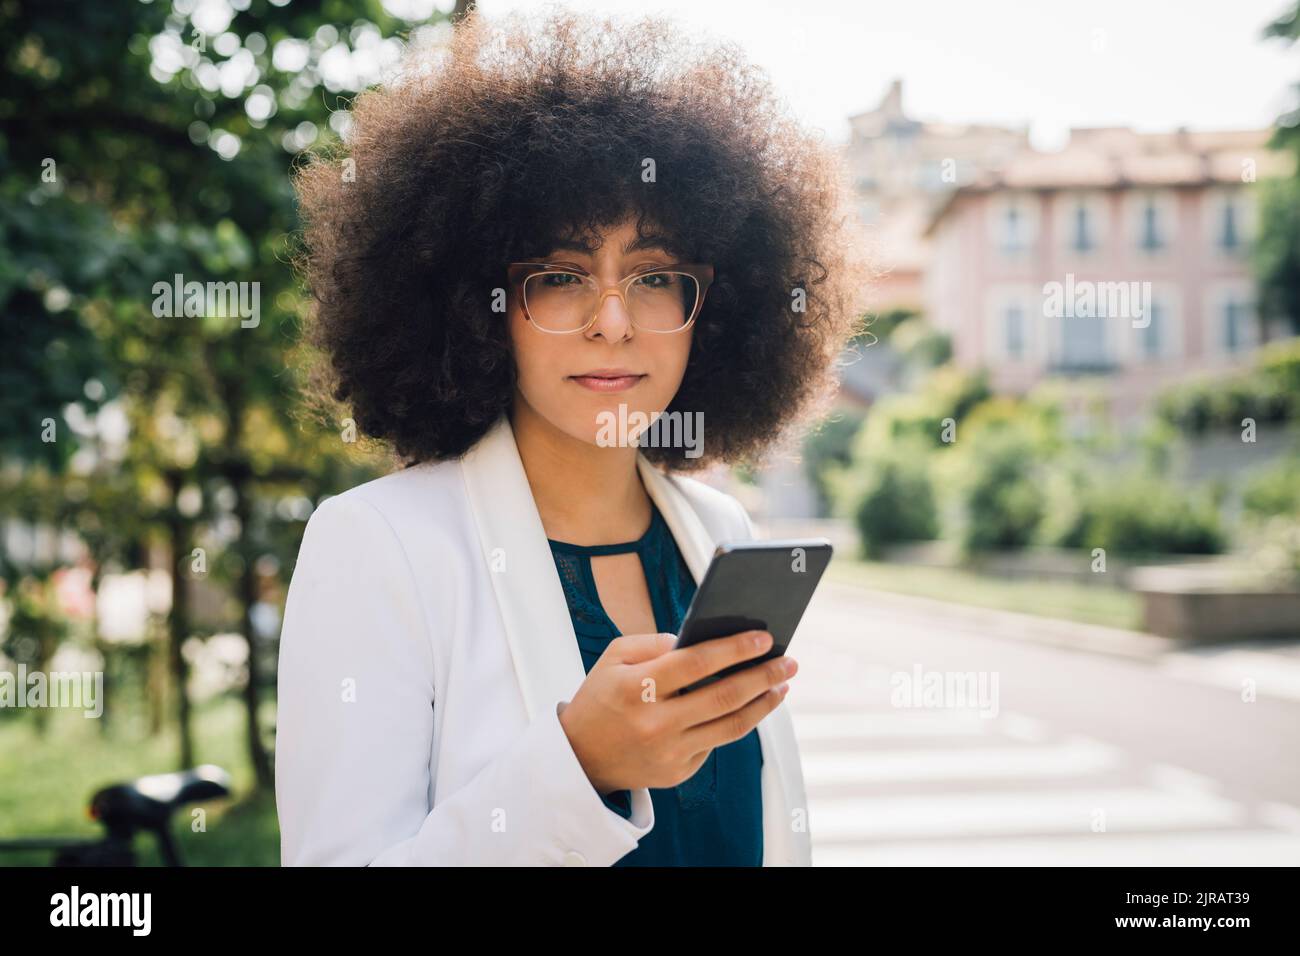
[[[1031,581],[989,578],[948,567],[883,564],[853,558],[835,558],[827,578],[842,584],[889,591],[936,601],[992,607],[1084,624],[1138,628],[1141,606],[1136,594],[1069,581]]]

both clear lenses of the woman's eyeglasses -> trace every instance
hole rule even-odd
[[[628,287],[627,304],[633,325],[651,332],[675,332],[690,319],[699,284],[682,272],[638,276]],[[581,329],[599,304],[595,282],[575,272],[538,272],[524,282],[528,313],[549,332]]]

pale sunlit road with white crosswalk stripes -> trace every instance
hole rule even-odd
[[[1300,645],[1000,631],[823,581],[786,698],[814,865],[1300,865]]]

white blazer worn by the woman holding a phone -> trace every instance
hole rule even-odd
[[[642,481],[698,583],[754,536],[729,494]],[[607,866],[654,826],[608,809],[559,723],[585,671],[559,572],[502,416],[460,460],[326,499],[307,523],[280,641],[283,865]],[[811,864],[788,708],[758,724],[763,865]]]

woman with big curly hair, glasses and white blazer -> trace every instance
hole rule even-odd
[[[671,23],[471,17],[410,66],[298,182],[334,398],[406,467],[303,537],[282,860],[806,865],[793,659],[676,695],[770,635],[672,635],[753,536],[681,472],[815,411],[855,330],[835,161]]]

